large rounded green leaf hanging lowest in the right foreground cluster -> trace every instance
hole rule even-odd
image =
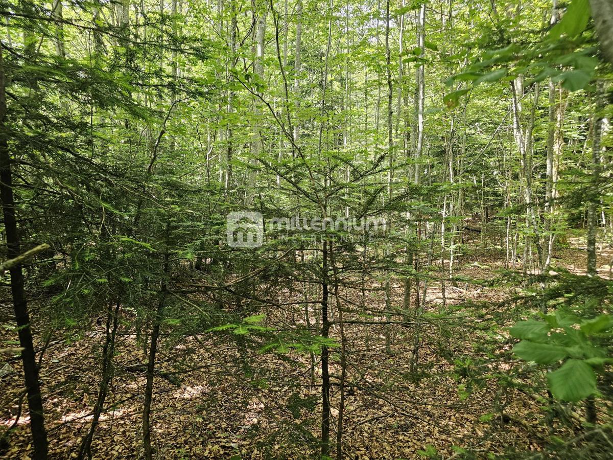
[[[560,369],[547,374],[551,393],[562,401],[581,401],[596,389],[596,375],[585,361],[569,359]]]

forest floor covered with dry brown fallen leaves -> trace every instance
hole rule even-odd
[[[580,243],[574,243],[574,247],[557,251],[557,266],[569,270],[585,267],[585,251]],[[601,252],[602,275],[610,269],[611,255],[607,248]],[[459,274],[482,280],[497,276],[502,267],[500,254],[474,257],[478,257],[478,263],[474,263],[477,259],[464,259]],[[402,304],[402,282],[393,285],[393,301]],[[508,308],[501,302],[514,293],[511,288],[468,283],[457,288],[446,286],[447,304],[487,301],[492,302],[492,309]],[[440,307],[441,286],[431,283],[427,297],[426,309],[435,314]],[[383,296],[373,295],[369,302],[383,302]],[[473,314],[468,309],[460,315],[438,316],[445,319],[446,328],[437,327],[434,320],[426,321],[418,378],[410,372],[411,330],[401,326],[392,329],[394,345],[392,353],[386,353],[383,326],[346,324],[347,381],[355,384],[354,394],[346,398],[343,450],[347,458],[420,458],[435,451],[451,458],[460,456],[458,447],[471,448],[479,458],[487,458],[488,453],[509,453],[513,448],[538,451],[549,442],[539,398],[503,388],[491,377],[518,365],[517,361],[493,359],[490,364],[473,364],[472,368],[466,361],[485,357],[487,353],[476,346],[478,343],[493,343],[494,355],[511,348],[504,328],[494,334],[479,328],[480,322],[489,321],[490,313]],[[276,321],[290,320],[281,315],[267,318],[268,326],[274,327]],[[338,335],[338,331],[333,329],[331,334]],[[51,458],[77,455],[96,399],[103,340],[104,326],[93,326],[93,331],[71,342],[51,342],[45,352],[40,379],[44,383]],[[151,415],[158,458],[317,458],[314,450],[321,389],[316,384],[321,375],[316,371],[313,385],[308,355],[293,351],[262,355],[249,350],[251,362],[246,366],[238,348],[227,340],[201,336],[167,343],[170,341],[159,353],[158,368],[168,374],[166,378],[156,377]],[[462,362],[454,362],[456,356]],[[340,366],[332,358],[330,373],[334,377],[340,374]],[[142,368],[134,370],[134,365],[145,362],[145,357],[142,347],[135,345],[134,335],[121,328],[115,359],[109,410],[102,415],[93,454],[99,459],[139,458],[145,375]],[[176,373],[177,361],[183,372]],[[352,366],[356,362],[362,365]],[[23,391],[20,362],[10,360],[9,366],[0,380],[2,431],[15,423]],[[486,366],[489,374],[481,372],[482,378],[471,383],[459,377],[459,367],[470,372],[479,366]],[[334,408],[338,408],[338,393],[338,386],[333,386],[333,424],[338,415]],[[2,458],[29,458],[26,408],[17,423],[9,447],[0,453]]]

